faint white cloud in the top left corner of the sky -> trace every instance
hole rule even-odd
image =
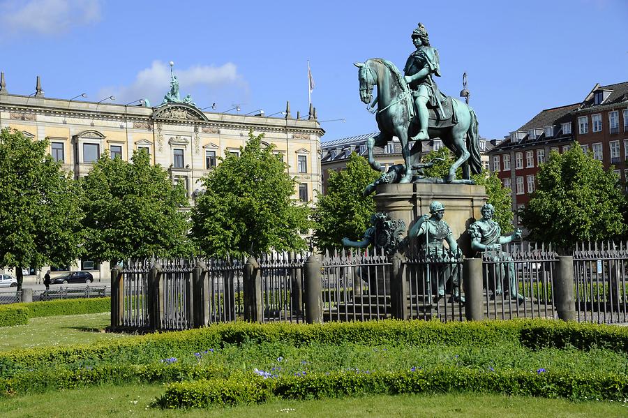
[[[100,0],[7,0],[0,27],[8,33],[55,35],[100,20]]]

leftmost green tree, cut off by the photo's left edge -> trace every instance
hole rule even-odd
[[[68,265],[80,257],[80,188],[48,154],[49,142],[0,132],[0,264],[15,268]]]

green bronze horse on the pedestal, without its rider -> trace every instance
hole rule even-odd
[[[371,104],[373,87],[377,86],[377,97],[372,106],[374,107],[377,103],[375,120],[380,133],[366,141],[368,163],[375,170],[381,171],[382,166],[373,158],[373,146],[384,147],[393,136],[396,136],[401,142],[401,152],[405,163],[405,172],[399,182],[410,183],[412,181],[410,157],[411,154],[416,154],[421,150],[421,147],[413,147],[411,150],[408,144],[409,139],[419,132],[419,126],[413,121],[417,110],[412,100],[412,90],[398,68],[390,61],[372,58],[364,63],[354,63],[354,65],[359,68],[358,79],[362,102],[367,105]],[[438,109],[440,112],[429,109],[429,139],[440,138],[442,143],[454,153],[456,161],[449,167],[447,177],[438,180],[446,183],[472,184],[471,173],[481,172],[475,112],[470,106],[453,97],[442,100],[440,107],[441,109]],[[461,166],[463,179],[456,180],[456,170]]]

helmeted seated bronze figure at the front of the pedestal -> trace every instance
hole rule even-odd
[[[443,221],[444,206],[440,202],[433,201],[430,204],[430,215],[421,216],[408,231],[406,240],[417,240],[421,257],[427,262],[427,268],[436,269],[438,276],[438,290],[436,299],[444,296],[445,285],[449,280],[453,285],[454,301],[464,302],[464,297],[460,294],[461,285],[461,260],[462,252],[458,248],[458,243],[454,239],[447,222]],[[443,241],[447,242],[449,248],[443,246]],[[428,271],[428,277],[431,277]],[[431,294],[431,280],[428,281],[428,290]]]

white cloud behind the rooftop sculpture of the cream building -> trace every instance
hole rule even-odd
[[[174,69],[179,80],[181,98],[191,94],[199,103],[204,97],[203,89],[223,89],[223,87],[248,90],[246,82],[237,72],[235,64],[228,62],[222,66],[191,66],[187,69]],[[135,80],[128,86],[105,87],[100,89],[98,97],[113,95],[117,103],[130,103],[133,100],[147,98],[151,105],[161,103],[170,88],[170,66],[162,61],[153,61],[149,68],[140,70]],[[199,94],[200,93],[200,94]],[[200,103],[199,103],[200,104]]]

